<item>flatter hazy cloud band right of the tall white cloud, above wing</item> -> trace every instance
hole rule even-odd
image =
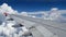
[[[35,16],[35,14],[43,14],[41,17],[44,20],[66,22],[66,10],[58,10],[57,8],[52,8],[51,11],[21,12],[21,14],[25,16],[30,16],[31,14],[31,17]]]

